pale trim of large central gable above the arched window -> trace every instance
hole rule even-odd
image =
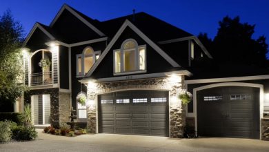
[[[164,59],[166,59],[166,61],[168,61],[172,66],[180,67],[176,61],[174,61],[171,57],[169,57],[163,50],[161,50],[161,48],[159,48],[159,46],[157,46],[146,35],[144,35],[143,32],[141,32],[141,30],[139,30],[134,24],[132,24],[130,21],[128,21],[128,19],[126,19],[126,21],[124,21],[121,28],[119,28],[118,32],[116,33],[116,35],[114,35],[113,39],[110,41],[106,49],[103,50],[103,53],[100,56],[100,59],[97,60],[96,64],[94,64],[92,68],[90,69],[90,71],[87,73],[86,77],[89,77],[90,75],[92,75],[94,70],[101,63],[101,61],[106,56],[106,54],[108,54],[108,51],[110,50],[110,48],[112,48],[113,44],[117,41],[117,39],[119,39],[119,36],[123,32],[123,30],[126,29],[127,26],[129,26],[132,30],[134,30],[137,33],[137,35],[139,35],[143,40],[145,40],[153,49],[157,51],[157,53],[159,53]]]

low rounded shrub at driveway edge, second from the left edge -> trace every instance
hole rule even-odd
[[[33,126],[19,126],[16,140],[35,140],[37,138],[37,131]]]

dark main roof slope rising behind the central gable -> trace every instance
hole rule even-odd
[[[132,22],[139,30],[147,35],[152,41],[164,41],[167,39],[176,39],[181,37],[193,36],[189,32],[181,30],[170,23],[157,19],[146,12],[139,12],[135,15],[127,15],[108,21],[101,21],[99,28],[105,32],[108,37],[113,37],[119,30],[124,21]]]

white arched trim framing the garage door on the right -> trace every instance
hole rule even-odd
[[[197,91],[201,91],[207,88],[215,88],[219,86],[247,86],[259,88],[259,128],[260,128],[260,139],[261,139],[261,117],[263,117],[263,85],[262,84],[250,84],[243,82],[226,82],[219,84],[210,84],[207,86],[200,86],[193,89],[193,113],[187,113],[187,117],[195,117],[195,130],[197,131]]]

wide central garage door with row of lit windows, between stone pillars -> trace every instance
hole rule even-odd
[[[99,95],[99,133],[168,136],[168,91]]]

